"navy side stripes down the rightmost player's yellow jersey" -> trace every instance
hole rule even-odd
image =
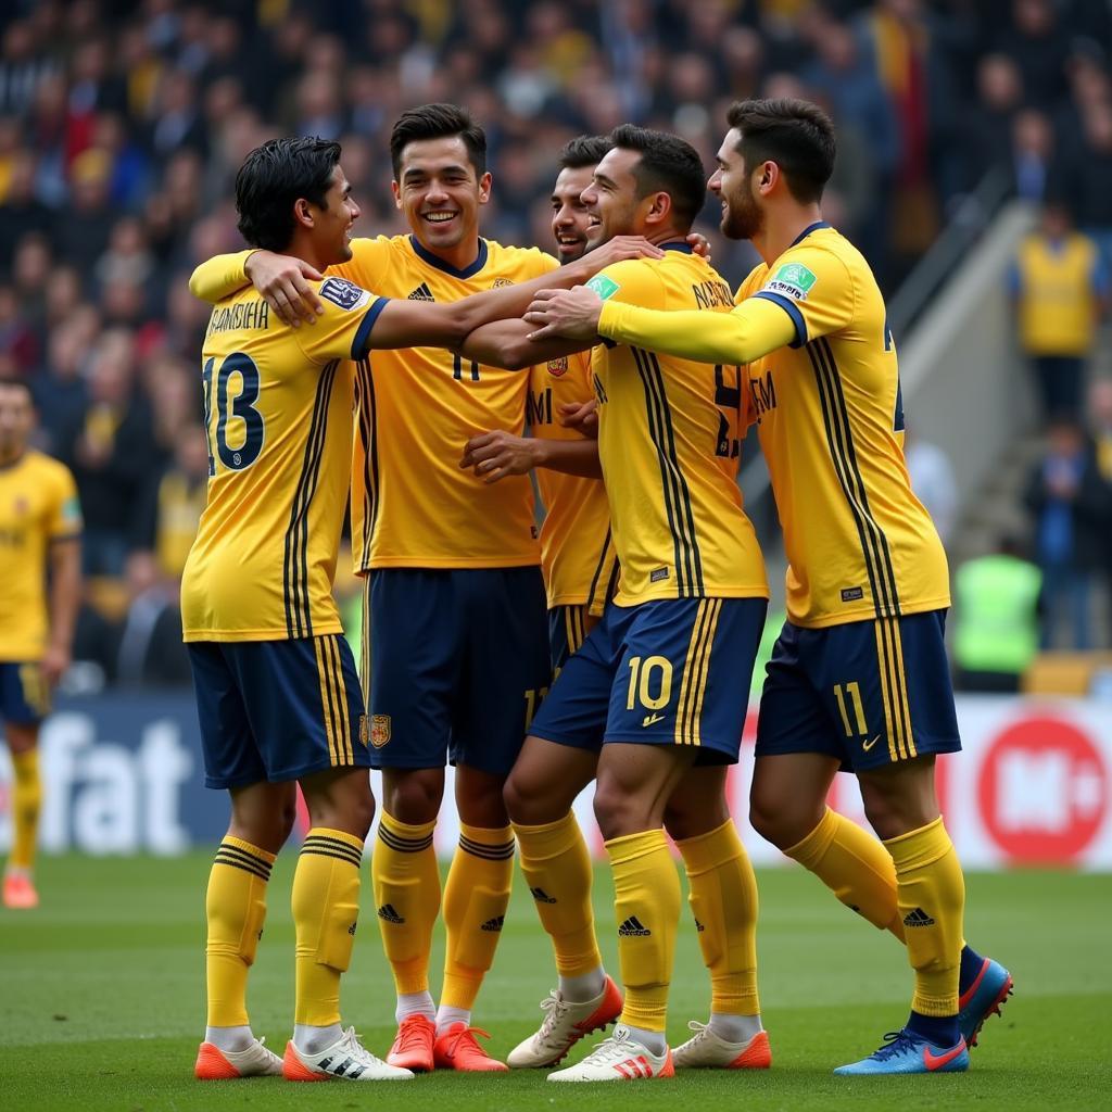
[[[826,441],[845,494],[850,512],[853,514],[861,550],[873,592],[873,605],[877,617],[898,617],[900,598],[896,592],[895,569],[887,537],[868,508],[865,480],[857,465],[857,455],[850,427],[850,413],[842,391],[842,381],[830,342],[822,338],[807,345],[807,355],[815,371],[818,397],[826,425]]]

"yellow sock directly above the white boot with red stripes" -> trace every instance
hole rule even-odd
[[[618,964],[625,986],[622,1022],[664,1031],[679,926],[679,877],[664,831],[606,843],[614,871]]]

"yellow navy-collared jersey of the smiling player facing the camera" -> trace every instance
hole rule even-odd
[[[457,270],[414,236],[356,239],[330,268],[384,297],[458,301],[529,281],[559,264],[536,248],[479,240]],[[356,374],[351,550],[375,567],[525,567],[540,562],[527,475],[487,485],[459,467],[477,433],[520,436],[529,375],[487,367],[436,347],[374,351]]]

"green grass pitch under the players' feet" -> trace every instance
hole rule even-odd
[[[251,973],[257,1034],[279,1053],[290,1030],[295,855],[279,860],[270,914]],[[802,870],[759,876],[761,987],[775,1064],[761,1073],[687,1072],[658,1084],[556,1086],[544,1072],[433,1074],[389,1086],[280,1080],[199,1084],[191,1068],[203,1030],[203,890],[210,856],[46,858],[43,906],[0,911],[0,1109],[471,1110],[731,1108],[765,1110],[1023,1110],[1112,1106],[1108,961],[1112,878],[1052,872],[972,875],[971,942],[1007,964],[1016,995],[990,1020],[964,1075],[852,1081],[831,1069],[867,1053],[906,1015],[910,975],[902,949],[842,909]],[[366,895],[366,892],[365,892]],[[603,952],[617,969],[605,875],[596,884]],[[344,990],[346,1022],[385,1053],[393,992],[374,917],[366,910]],[[439,970],[438,939],[434,969]],[[504,1055],[534,1030],[553,983],[547,940],[517,877],[495,967],[475,1020]],[[706,1019],[708,992],[685,915],[669,1035]],[[582,1053],[577,1049],[575,1056]]]

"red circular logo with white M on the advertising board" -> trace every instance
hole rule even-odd
[[[1015,864],[1071,864],[1096,836],[1109,805],[1096,746],[1061,718],[1025,718],[992,743],[977,796],[985,830]]]

